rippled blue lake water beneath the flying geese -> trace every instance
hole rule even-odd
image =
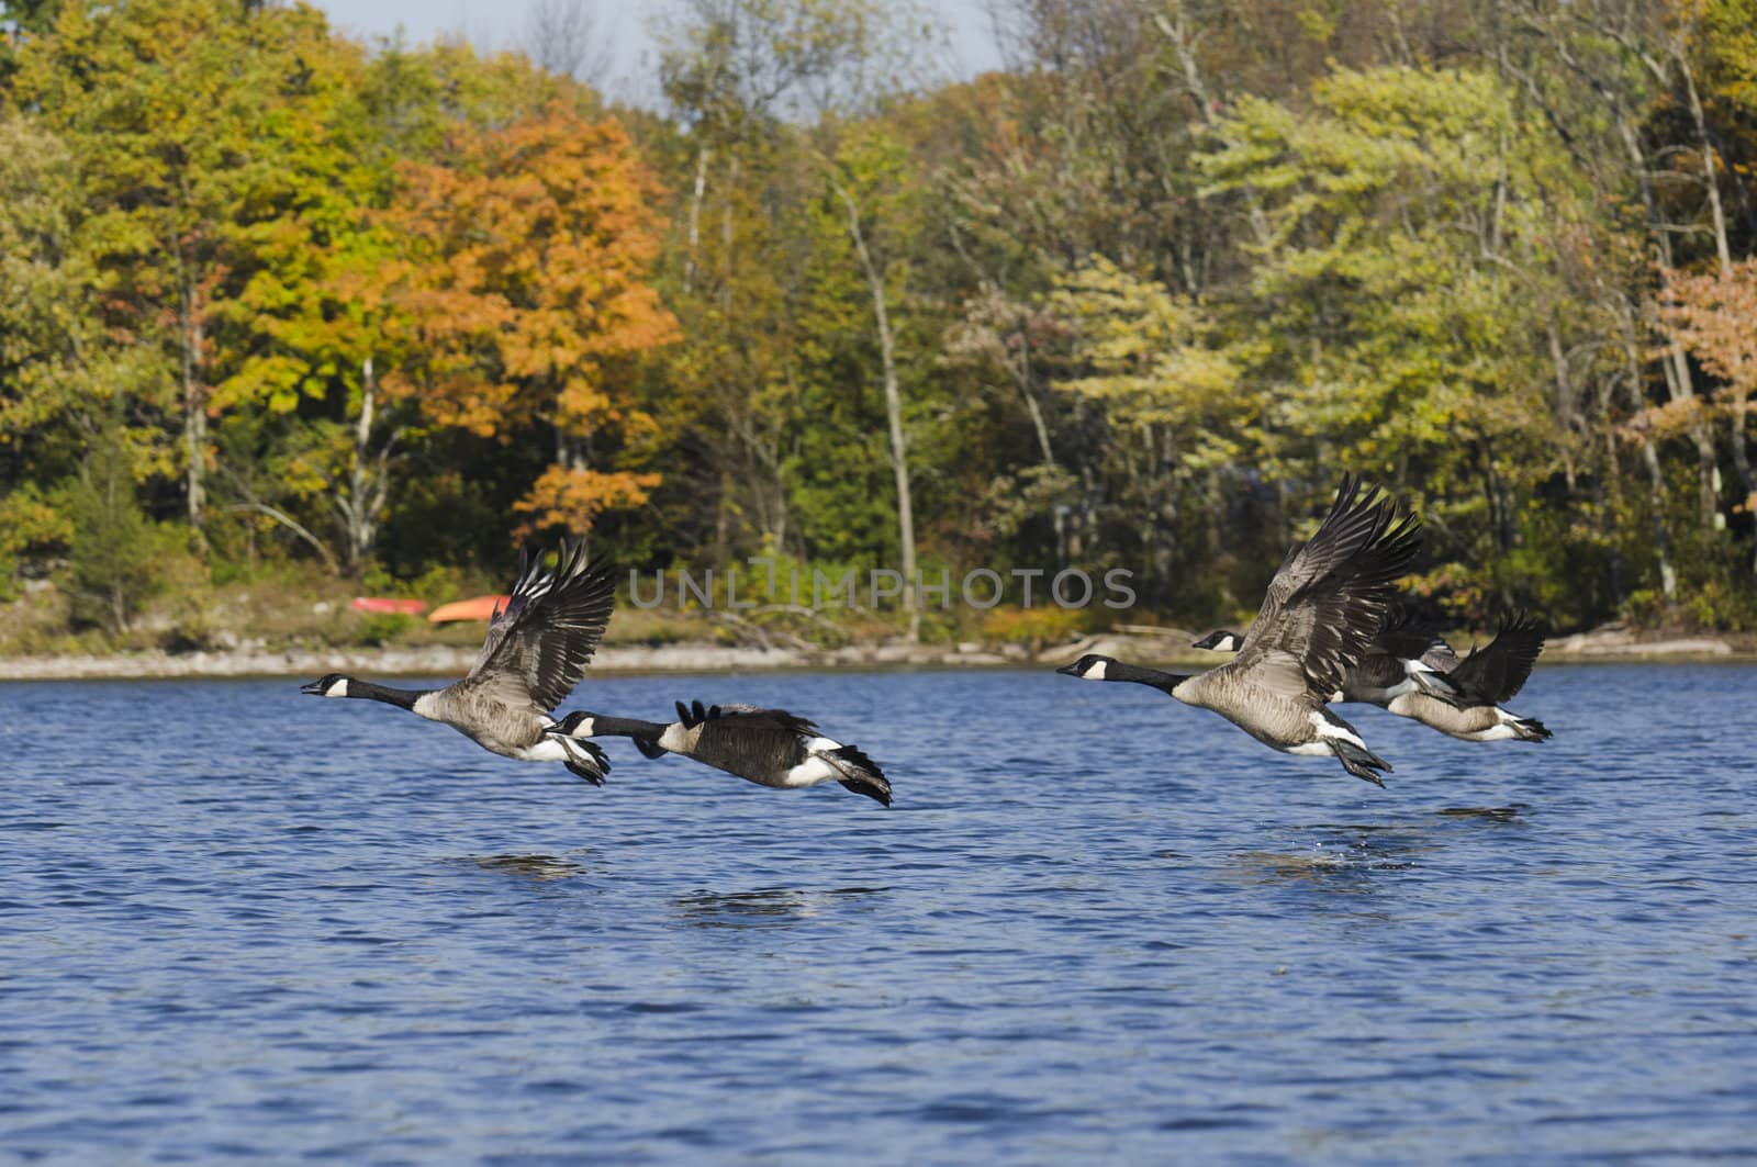
[[[1383,791],[1047,670],[568,705],[813,715],[891,810],[297,689],[0,685],[0,1160],[1757,1158],[1753,668],[1349,707]]]

